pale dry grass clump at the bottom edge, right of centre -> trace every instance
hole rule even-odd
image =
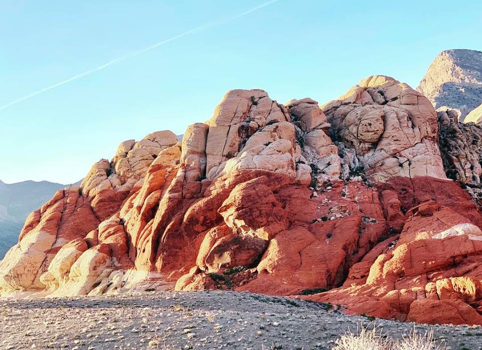
[[[368,329],[360,325],[356,333],[348,330],[339,339],[332,350],[444,350],[433,339],[433,330],[419,334],[415,328],[402,339],[393,340],[384,334],[382,328],[374,326]]]

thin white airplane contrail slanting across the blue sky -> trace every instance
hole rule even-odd
[[[147,47],[147,48],[145,48],[145,49],[142,49],[142,50],[139,50],[139,51],[135,51],[135,52],[133,52],[133,53],[125,54],[125,55],[123,55],[123,56],[114,58],[114,59],[112,59],[112,60],[110,60],[110,61],[108,61],[108,62],[105,62],[104,64],[101,64],[101,65],[95,67],[95,68],[86,70],[86,71],[84,71],[84,72],[82,72],[82,73],[79,73],[79,74],[76,74],[76,75],[74,75],[74,76],[71,76],[71,77],[68,78],[68,79],[59,81],[59,82],[57,82],[57,83],[55,83],[55,84],[53,84],[53,85],[47,86],[46,88],[37,90],[37,91],[35,91],[35,92],[33,92],[33,93],[29,94],[29,95],[26,95],[26,96],[24,96],[24,97],[21,97],[21,98],[19,98],[19,99],[17,99],[17,100],[14,100],[14,101],[12,101],[12,102],[9,102],[9,103],[6,104],[6,105],[0,106],[0,111],[4,110],[4,109],[6,109],[6,108],[8,108],[8,107],[10,107],[10,106],[16,105],[16,104],[18,104],[18,103],[20,103],[20,102],[22,102],[22,101],[28,100],[28,99],[30,99],[30,98],[32,98],[32,97],[34,97],[34,96],[37,96],[37,95],[42,94],[42,93],[45,93],[45,92],[47,92],[47,91],[49,91],[49,90],[58,88],[59,86],[62,86],[62,85],[66,84],[66,83],[68,83],[68,82],[70,82],[70,81],[80,79],[80,78],[82,78],[82,77],[84,77],[84,76],[86,76],[86,75],[90,75],[90,74],[95,73],[95,72],[97,72],[97,71],[99,71],[99,70],[105,69],[105,68],[111,66],[112,64],[120,63],[120,62],[123,62],[123,61],[125,61],[125,60],[130,59],[130,58],[133,58],[133,57],[142,55],[143,53],[145,53],[145,52],[147,52],[147,51],[150,51],[150,50],[152,50],[152,49],[155,49],[156,47],[161,46],[161,45],[164,45],[164,44],[166,44],[166,43],[168,43],[168,42],[170,42],[170,41],[179,39],[179,38],[181,38],[181,37],[183,37],[183,36],[185,36],[185,35],[198,32],[198,31],[200,31],[200,30],[202,30],[202,29],[204,29],[204,28],[208,28],[208,27],[212,27],[212,26],[215,26],[215,25],[224,24],[224,23],[228,23],[228,22],[237,20],[237,19],[239,19],[239,18],[242,18],[242,17],[244,17],[244,16],[246,16],[246,15],[249,15],[249,14],[255,12],[255,11],[258,11],[258,10],[260,10],[260,9],[263,9],[263,8],[265,8],[265,7],[267,7],[267,6],[271,5],[271,4],[277,3],[277,2],[279,2],[279,1],[281,1],[281,0],[271,0],[271,1],[267,2],[267,3],[263,3],[263,4],[261,4],[261,5],[258,5],[257,7],[254,7],[253,9],[250,9],[250,10],[248,10],[248,11],[246,11],[246,12],[243,12],[242,14],[236,15],[236,16],[234,16],[234,17],[232,17],[232,18],[229,18],[229,19],[226,19],[226,20],[211,21],[211,22],[205,23],[205,24],[203,24],[203,25],[201,25],[201,26],[199,26],[199,27],[190,29],[190,30],[188,30],[188,31],[186,31],[186,32],[183,32],[183,33],[181,33],[181,34],[175,35],[175,36],[173,36],[173,37],[171,37],[171,38],[169,38],[169,39],[160,41],[160,42],[158,42],[158,43],[156,43],[156,44],[154,44],[154,45],[151,45],[151,46],[149,46],[149,47]]]

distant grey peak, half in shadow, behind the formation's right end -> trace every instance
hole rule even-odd
[[[437,111],[455,110],[463,122],[482,103],[482,52],[442,51],[430,64],[417,90]]]

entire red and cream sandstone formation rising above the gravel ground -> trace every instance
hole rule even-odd
[[[440,322],[478,323],[480,225],[407,84],[368,77],[323,109],[233,90],[182,142],[125,141],[32,213],[0,293],[229,289],[434,322],[443,303],[471,316]]]

